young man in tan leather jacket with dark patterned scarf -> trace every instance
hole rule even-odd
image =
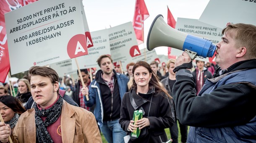
[[[68,104],[58,94],[59,77],[48,67],[33,66],[28,79],[34,108],[20,116],[11,133],[9,125],[0,123],[0,141],[14,143],[102,143],[93,113]]]

